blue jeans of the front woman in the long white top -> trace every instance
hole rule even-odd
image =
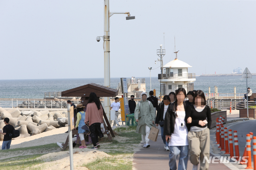
[[[180,160],[178,163],[178,170],[186,170],[187,162],[188,162],[188,145],[187,146],[170,146],[170,154],[169,154],[169,166],[171,170],[176,170],[176,159],[178,154],[180,154]]]

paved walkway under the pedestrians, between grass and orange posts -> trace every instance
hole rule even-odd
[[[160,127],[159,127],[160,129]],[[164,143],[161,138],[161,130],[159,130],[158,140],[153,142],[150,140],[149,148],[141,148],[133,154],[134,168],[137,170],[169,170],[169,151],[165,151]],[[141,147],[143,144],[141,144]],[[213,155],[210,155],[213,156]],[[178,165],[178,159],[176,160]],[[193,165],[188,158],[187,170],[192,170]],[[199,169],[199,166],[198,166]],[[224,164],[210,164],[209,170],[230,170]]]

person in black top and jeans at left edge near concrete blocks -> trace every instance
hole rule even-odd
[[[4,119],[5,126],[4,126],[3,130],[0,131],[0,134],[4,135],[4,140],[2,143],[2,150],[10,149],[10,146],[11,146],[10,134],[12,133],[13,130],[15,130],[14,127],[9,124],[9,121],[10,121],[9,118]]]

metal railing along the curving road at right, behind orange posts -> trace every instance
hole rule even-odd
[[[248,99],[248,106],[255,106],[255,99]],[[207,99],[206,104],[209,107],[217,108],[220,110],[229,109],[231,102],[231,109],[247,108],[247,102],[244,99]]]

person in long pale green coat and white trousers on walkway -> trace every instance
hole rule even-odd
[[[145,92],[142,92],[140,98],[141,101],[138,102],[134,112],[134,119],[138,122],[136,132],[142,134],[143,148],[148,148],[150,147],[148,136],[155,123],[155,111],[153,104],[146,100]]]

